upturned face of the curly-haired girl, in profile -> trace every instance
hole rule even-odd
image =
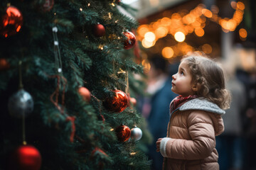
[[[183,60],[178,67],[178,72],[172,76],[171,91],[183,97],[195,94],[197,88],[192,85],[192,77],[186,60]]]

